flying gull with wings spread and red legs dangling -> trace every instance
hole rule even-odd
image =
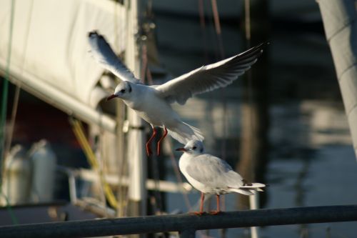
[[[149,147],[156,135],[155,127],[164,127],[164,134],[157,144],[157,154],[160,152],[160,143],[169,133],[171,137],[182,144],[191,139],[203,140],[199,129],[181,121],[180,116],[171,108],[171,104],[185,104],[187,99],[196,94],[212,91],[231,84],[257,61],[263,52],[265,44],[259,44],[241,54],[218,61],[183,74],[165,84],[146,86],[136,79],[134,74],[124,66],[116,56],[104,36],[96,31],[89,32],[91,54],[105,69],[119,77],[121,82],[116,86],[114,94],[107,100],[116,97],[134,109],[142,119],[149,122],[153,134],[146,143],[146,152],[152,154]]]

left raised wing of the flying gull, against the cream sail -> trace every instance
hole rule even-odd
[[[139,82],[134,74],[121,62],[119,57],[116,56],[104,36],[96,31],[91,31],[88,34],[88,39],[92,56],[104,69],[108,69],[123,81]]]

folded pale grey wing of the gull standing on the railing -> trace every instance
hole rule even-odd
[[[222,159],[202,154],[191,159],[186,171],[196,181],[209,187],[241,187],[242,177]]]

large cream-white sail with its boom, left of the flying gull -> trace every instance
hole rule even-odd
[[[11,81],[86,122],[114,132],[115,122],[96,111],[107,96],[97,86],[104,69],[91,59],[87,34],[98,29],[118,53],[126,46],[124,6],[116,1],[11,1],[0,8],[0,74],[5,75],[11,46]]]

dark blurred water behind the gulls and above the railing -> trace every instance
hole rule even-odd
[[[354,204],[356,157],[318,5],[303,1],[297,4],[296,11],[291,6],[293,13],[288,16],[288,6],[278,4],[282,1],[271,2],[272,16],[268,19],[271,45],[265,53],[269,68],[269,149],[266,152],[268,164],[262,174],[270,187],[266,189],[262,205],[283,208]],[[166,69],[178,76],[204,64],[202,31],[198,17],[191,18],[195,12],[191,8],[189,11],[178,8],[183,15],[176,18],[162,14],[169,6],[161,1],[154,6],[159,10],[156,15],[159,57]],[[231,16],[230,10],[225,11]],[[240,16],[242,9],[236,11]],[[292,19],[298,18],[311,21],[311,28],[304,26],[304,20],[301,25],[286,27],[295,21]],[[244,39],[241,27],[227,22],[223,21],[222,36],[226,56],[231,56],[243,51]],[[207,24],[208,55],[217,59],[212,22]],[[190,99],[186,106],[176,106],[186,122],[204,132],[208,152],[221,156],[222,142],[226,141],[224,153],[232,165],[240,159],[237,148],[242,132],[243,91],[242,83],[236,81],[228,89]],[[222,94],[226,99],[226,113],[223,113]],[[223,132],[223,122],[226,122],[226,132]],[[170,178],[175,180],[174,174]],[[199,193],[193,192],[188,198],[191,204],[196,204]],[[238,209],[238,199],[236,194],[226,195],[226,210]],[[166,202],[169,212],[188,210],[181,194],[169,194]],[[214,208],[214,202],[211,205]],[[264,227],[260,232],[261,237],[356,237],[357,229],[356,222],[344,222]],[[227,235],[246,237],[248,233],[245,229],[229,229]],[[211,235],[218,237],[217,232]]]

